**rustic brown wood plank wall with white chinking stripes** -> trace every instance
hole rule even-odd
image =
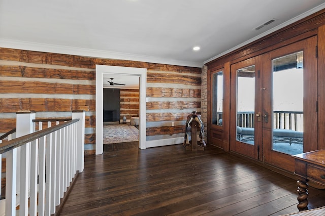
[[[201,111],[201,68],[0,48],[0,134],[20,110],[66,118],[83,109],[85,149],[94,153],[96,64],[147,68],[147,140],[184,136],[186,116]],[[135,92],[122,95],[121,115],[137,115]]]

